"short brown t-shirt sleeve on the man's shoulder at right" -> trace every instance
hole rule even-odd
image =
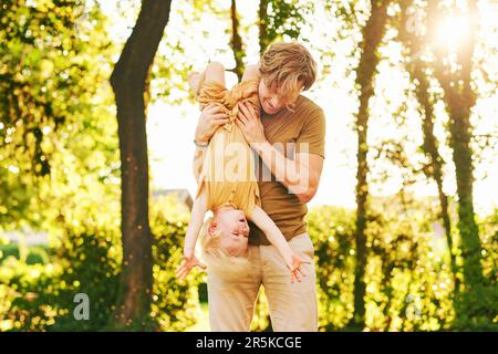
[[[307,117],[295,142],[295,153],[308,153],[325,158],[325,114],[317,107]]]

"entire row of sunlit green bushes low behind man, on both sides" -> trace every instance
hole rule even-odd
[[[437,212],[430,206],[415,206],[402,212],[391,205],[380,210],[383,214],[370,216],[366,232],[367,329],[497,331],[498,215],[478,221],[486,282],[454,296],[457,292],[445,240],[433,235],[432,222]],[[194,271],[184,283],[174,277],[181,259],[188,215],[173,198],[153,201],[153,323],[137,330],[183,331],[200,316],[198,284],[204,273]],[[352,330],[347,325],[353,315],[354,217],[353,210],[329,206],[315,207],[307,216],[315,249],[321,331]],[[2,243],[0,331],[106,327],[120,282],[120,231],[116,227],[104,230],[85,222],[81,226],[65,221],[65,236],[56,248],[46,250],[49,262],[27,263],[19,259],[15,247]],[[73,299],[80,292],[91,299],[90,321],[74,320]],[[271,330],[263,291],[256,304],[251,330]]]

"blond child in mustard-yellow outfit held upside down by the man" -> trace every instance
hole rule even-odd
[[[176,274],[183,280],[193,267],[206,268],[195,257],[195,244],[201,233],[203,252],[207,260],[217,262],[218,268],[237,268],[236,260],[243,259],[248,251],[249,227],[251,220],[264,232],[268,240],[279,250],[291,272],[291,282],[300,281],[301,264],[309,263],[295,254],[286,238],[261,209],[258,184],[252,166],[252,154],[240,128],[234,122],[238,113],[238,104],[249,102],[256,112],[260,111],[258,97],[259,71],[246,70],[240,83],[231,90],[225,86],[225,69],[219,63],[210,63],[203,74],[194,73],[189,85],[201,110],[209,104],[220,105],[227,113],[228,122],[218,127],[206,154],[203,171],[198,178],[198,187],[194,201],[190,222],[184,246],[184,262]],[[228,154],[227,152],[235,152]],[[231,173],[227,167],[236,167]],[[207,210],[212,210],[203,228]],[[209,262],[211,267],[214,262]]]

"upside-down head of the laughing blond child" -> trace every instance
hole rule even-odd
[[[229,206],[217,209],[201,230],[204,261],[225,274],[247,271],[248,237],[249,226],[241,210]]]

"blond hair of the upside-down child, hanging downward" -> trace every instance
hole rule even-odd
[[[228,278],[241,278],[248,274],[250,271],[250,264],[247,257],[229,256],[221,247],[219,247],[221,240],[221,232],[214,231],[209,233],[209,226],[214,221],[212,217],[209,217],[200,230],[199,239],[201,247],[201,260],[208,267],[209,272],[215,272],[217,275],[221,275],[225,279]]]

